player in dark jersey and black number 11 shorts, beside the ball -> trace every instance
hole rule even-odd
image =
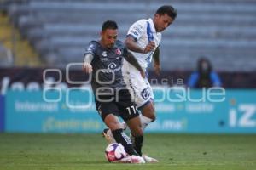
[[[142,71],[142,77],[143,70],[125,48],[124,43],[117,40],[117,36],[117,24],[111,20],[104,22],[101,39],[91,41],[86,48],[83,70],[87,73],[92,72],[91,87],[96,98],[96,110],[113,133],[115,141],[122,144],[130,155],[125,157],[123,162],[145,163],[141,157],[143,129],[136,105],[132,102],[122,76],[124,58],[138,71]],[[132,145],[130,137],[123,132],[119,116],[130,127],[136,140],[135,146]]]

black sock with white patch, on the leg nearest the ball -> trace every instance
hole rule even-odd
[[[117,129],[112,131],[113,138],[119,144],[125,147],[125,151],[130,155],[138,156],[136,150],[133,149],[131,139],[123,132],[123,129]]]

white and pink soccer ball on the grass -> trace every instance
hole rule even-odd
[[[122,144],[108,144],[105,156],[109,162],[118,161],[126,156],[125,148]]]

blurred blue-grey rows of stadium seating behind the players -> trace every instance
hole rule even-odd
[[[119,39],[141,18],[170,1],[20,0],[5,8],[22,35],[49,65],[81,62],[84,48],[99,37],[104,20],[116,20]],[[164,70],[191,70],[205,55],[218,71],[254,71],[256,2],[253,0],[172,1],[177,20],[163,32]]]

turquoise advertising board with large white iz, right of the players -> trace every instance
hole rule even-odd
[[[256,133],[255,90],[169,93],[170,97],[155,102],[157,119],[149,125],[148,132]],[[154,96],[157,100],[163,92],[154,92]]]

